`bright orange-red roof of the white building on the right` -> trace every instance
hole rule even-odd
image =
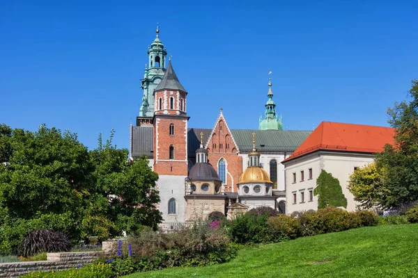
[[[384,126],[321,122],[284,162],[320,149],[374,154],[387,143],[394,143],[394,132],[395,129]]]

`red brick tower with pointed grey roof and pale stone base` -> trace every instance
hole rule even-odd
[[[171,61],[154,91],[154,171],[160,178],[160,211],[164,222],[185,221],[187,178],[187,92]]]

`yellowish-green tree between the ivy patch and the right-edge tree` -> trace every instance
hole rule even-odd
[[[369,163],[360,167],[348,179],[348,190],[359,202],[360,208],[379,207],[387,192],[383,186],[382,175],[376,163]]]

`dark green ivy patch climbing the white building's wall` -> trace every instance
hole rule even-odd
[[[326,208],[327,206],[347,208],[347,199],[343,195],[339,180],[325,170],[322,170],[318,179],[316,179],[314,195],[319,195],[318,208]]]

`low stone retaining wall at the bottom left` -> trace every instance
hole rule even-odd
[[[30,272],[59,271],[84,266],[93,261],[102,252],[66,252],[48,253],[47,261],[20,261],[16,263],[0,263],[0,277],[19,277]]]

